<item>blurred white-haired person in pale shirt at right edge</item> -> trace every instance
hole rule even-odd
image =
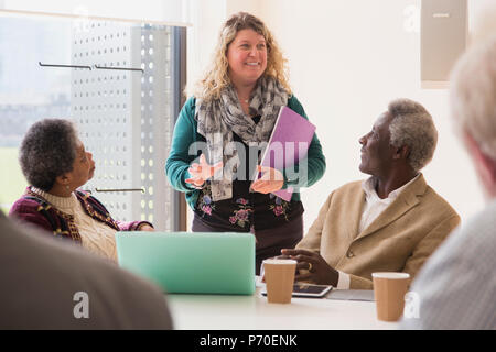
[[[450,110],[488,204],[425,264],[411,287],[418,315],[403,329],[496,329],[496,36],[456,63]]]

